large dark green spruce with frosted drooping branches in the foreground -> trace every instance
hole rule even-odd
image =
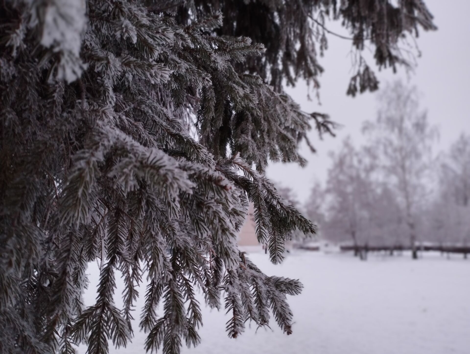
[[[249,202],[274,263],[295,229],[314,231],[263,172],[269,159],[304,164],[311,125],[331,132],[281,86],[318,86],[325,16],[342,19],[357,50],[375,44],[379,67],[402,63],[400,38],[434,29],[421,0],[0,3],[1,353],[126,346],[144,271],[148,351],[197,345],[196,289],[230,312],[230,337],[247,320],[267,325],[269,310],[292,332],[286,295],[301,284],[266,276],[235,240]],[[351,94],[377,87],[368,66],[353,80]]]

